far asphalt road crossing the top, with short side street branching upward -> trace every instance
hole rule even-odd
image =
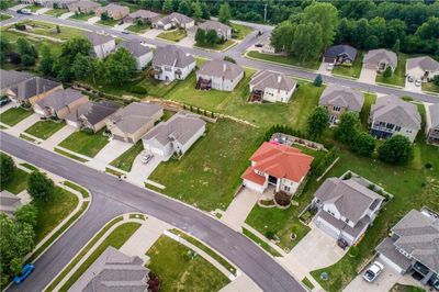
[[[4,22],[1,22],[0,23],[1,25],[16,22],[18,20],[37,19],[37,20],[43,20],[43,21],[50,21],[50,22],[54,22],[57,24],[76,26],[76,27],[80,27],[80,29],[89,30],[89,31],[106,32],[114,36],[126,38],[126,40],[133,40],[133,38],[140,40],[140,41],[146,42],[147,44],[155,45],[155,46],[164,46],[164,45],[170,44],[169,42],[166,42],[166,41],[145,38],[140,35],[136,35],[136,34],[123,34],[122,32],[112,30],[110,26],[89,24],[87,22],[77,21],[77,20],[69,20],[69,19],[61,20],[61,19],[49,16],[49,15],[22,15],[22,14],[12,12],[12,11],[9,11],[9,13],[13,14],[15,18],[9,19]],[[243,22],[238,22],[238,23],[243,23]],[[211,59],[223,58],[224,56],[232,56],[233,58],[235,58],[235,60],[238,64],[240,64],[243,66],[248,66],[248,67],[252,67],[256,69],[271,69],[271,70],[275,70],[275,71],[281,71],[281,72],[290,75],[292,77],[314,80],[314,78],[317,76],[317,72],[315,72],[315,71],[311,71],[311,70],[306,70],[306,69],[302,69],[302,68],[292,68],[289,66],[269,64],[269,63],[248,59],[248,58],[244,57],[243,54],[248,47],[250,47],[251,45],[254,45],[257,42],[260,42],[260,40],[268,38],[270,35],[270,32],[272,30],[272,26],[269,26],[269,25],[261,25],[261,24],[255,24],[255,23],[245,23],[245,24],[252,26],[255,29],[255,31],[251,34],[249,34],[245,40],[243,40],[237,46],[230,48],[227,52],[218,53],[218,52],[209,52],[209,50],[199,49],[199,48],[188,48],[188,47],[181,47],[181,48],[183,50],[185,50],[187,53],[190,53],[190,54],[193,54],[193,55],[196,55],[200,57],[211,58]],[[261,36],[257,36],[257,31],[261,31],[263,34]],[[356,88],[356,89],[367,91],[367,92],[394,94],[396,97],[408,96],[418,101],[439,103],[439,97],[432,96],[432,94],[417,93],[417,92],[406,91],[403,89],[384,87],[384,86],[379,86],[379,85],[369,85],[369,83],[360,82],[358,80],[350,80],[350,79],[345,79],[345,78],[339,78],[339,77],[334,77],[334,76],[322,76],[322,77],[323,77],[323,80],[327,83],[335,83],[335,85],[339,85],[339,86]]]

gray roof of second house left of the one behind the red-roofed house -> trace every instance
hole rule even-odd
[[[157,47],[153,57],[153,66],[160,67],[184,68],[192,63],[195,63],[195,58],[192,55],[185,54],[181,48],[172,45]]]

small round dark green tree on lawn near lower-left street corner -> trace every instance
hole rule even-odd
[[[27,192],[35,201],[47,201],[55,191],[54,181],[45,173],[33,171],[27,178]]]

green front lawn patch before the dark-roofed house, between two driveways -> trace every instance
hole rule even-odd
[[[102,135],[104,130],[95,134],[82,131],[75,132],[63,141],[59,146],[89,157],[94,157],[108,143],[109,137]]]

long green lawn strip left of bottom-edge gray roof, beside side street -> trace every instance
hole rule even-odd
[[[126,240],[140,227],[139,223],[124,223],[117,226],[103,243],[87,258],[87,260],[74,272],[67,282],[60,288],[59,291],[67,291],[87,269],[102,255],[109,246],[116,249],[121,248]]]

